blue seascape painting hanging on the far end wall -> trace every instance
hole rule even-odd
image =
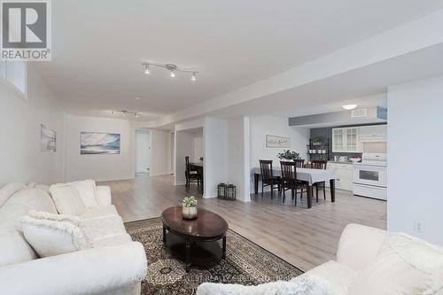
[[[80,154],[120,154],[120,134],[81,132]]]

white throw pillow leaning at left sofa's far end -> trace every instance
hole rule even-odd
[[[50,191],[58,213],[80,215],[86,212],[78,190],[71,183],[51,185]]]

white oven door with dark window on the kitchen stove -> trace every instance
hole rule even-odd
[[[386,167],[354,164],[354,183],[387,187]]]

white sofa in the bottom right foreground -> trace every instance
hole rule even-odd
[[[313,278],[320,279],[328,291],[282,291],[287,290],[288,282],[259,286],[203,283],[198,295],[443,295],[443,248],[408,235],[349,224],[339,240],[337,261],[313,268],[297,280],[303,283],[303,279]],[[422,284],[432,290],[417,291]]]

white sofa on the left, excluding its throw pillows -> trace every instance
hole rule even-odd
[[[10,183],[0,189],[0,294],[140,294],[144,246],[128,236],[110,189],[96,191],[98,206],[78,216],[92,247],[39,258],[21,220],[30,210],[58,213],[49,187]]]

